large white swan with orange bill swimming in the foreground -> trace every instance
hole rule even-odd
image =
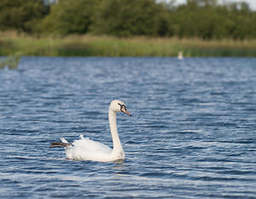
[[[120,111],[131,116],[131,113],[126,110],[126,106],[123,101],[118,99],[113,100],[108,109],[108,121],[113,139],[113,150],[102,143],[88,138],[84,139],[82,134],[80,135],[80,139],[74,140],[73,143],[68,143],[66,139],[61,138],[61,142],[52,143],[49,147],[64,146],[67,159],[72,160],[90,160],[97,162],[124,160],[125,152],[121,145],[116,126],[116,114]]]

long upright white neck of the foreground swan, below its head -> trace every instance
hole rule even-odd
[[[119,134],[116,126],[116,112],[112,111],[110,108],[108,110],[108,121],[109,128],[113,139],[113,151],[121,152],[123,147],[121,145]]]

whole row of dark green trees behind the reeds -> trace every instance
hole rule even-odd
[[[156,3],[157,2],[157,3]],[[154,0],[1,0],[0,30],[118,37],[256,38],[256,12],[247,3],[187,0],[176,6]]]

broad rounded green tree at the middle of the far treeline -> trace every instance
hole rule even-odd
[[[104,0],[96,9],[90,30],[119,37],[164,36],[169,31],[166,14],[154,0]]]

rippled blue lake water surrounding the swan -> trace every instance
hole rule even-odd
[[[70,161],[79,134],[124,162]],[[256,198],[256,59],[23,57],[0,70],[1,198]]]

